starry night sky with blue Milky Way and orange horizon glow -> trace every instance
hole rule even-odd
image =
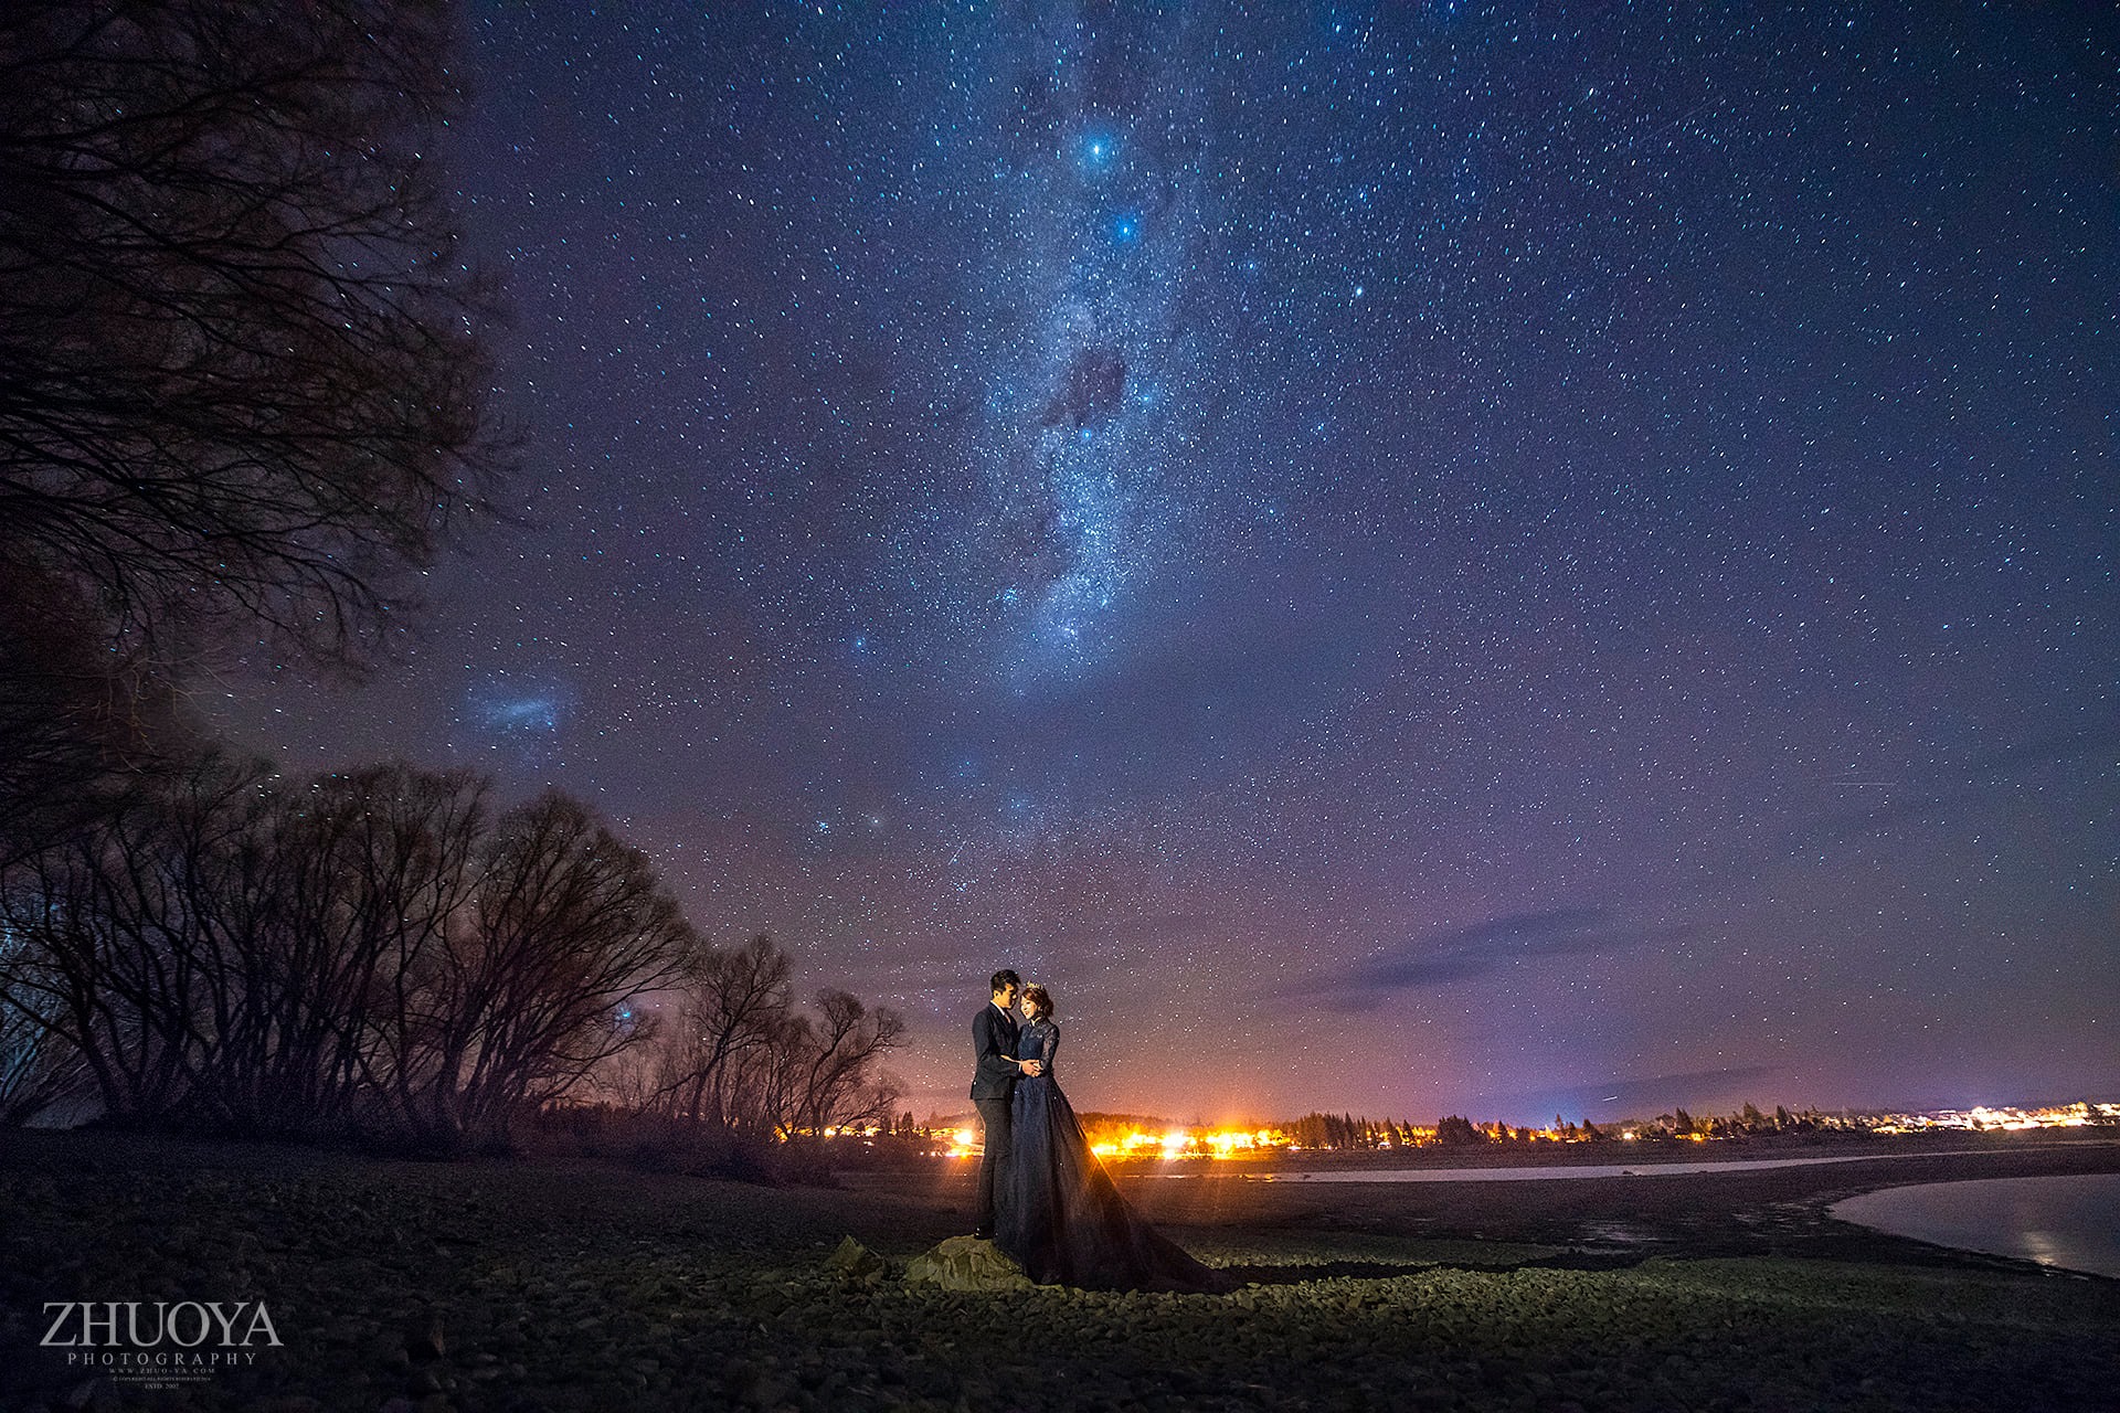
[[[710,11],[710,13],[702,13]],[[1753,13],[1760,11],[1760,13]],[[1079,1108],[2120,1091],[2103,6],[473,6],[530,523],[286,769]]]

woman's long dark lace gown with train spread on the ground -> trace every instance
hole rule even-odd
[[[1119,1197],[1054,1078],[1058,1049],[1060,1027],[1052,1021],[1024,1025],[1015,1044],[1015,1057],[1043,1061],[1045,1074],[1015,1080],[1013,1148],[996,1174],[994,1244],[1047,1286],[1230,1290],[1230,1277],[1158,1235]]]

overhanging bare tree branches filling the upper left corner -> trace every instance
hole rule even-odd
[[[352,665],[494,506],[449,23],[0,6],[0,866],[182,769],[201,646]]]

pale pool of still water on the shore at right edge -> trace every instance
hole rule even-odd
[[[1832,1214],[1895,1237],[2120,1277],[2120,1174],[1891,1186],[1838,1201]]]

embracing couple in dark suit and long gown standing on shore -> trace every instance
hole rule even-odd
[[[1013,1008],[1022,1008],[1018,1023]],[[1090,1152],[1054,1078],[1060,1027],[1052,994],[994,972],[971,1023],[979,1068],[971,1099],[986,1125],[979,1229],[1030,1280],[1083,1290],[1227,1290],[1230,1280],[1134,1216]]]

